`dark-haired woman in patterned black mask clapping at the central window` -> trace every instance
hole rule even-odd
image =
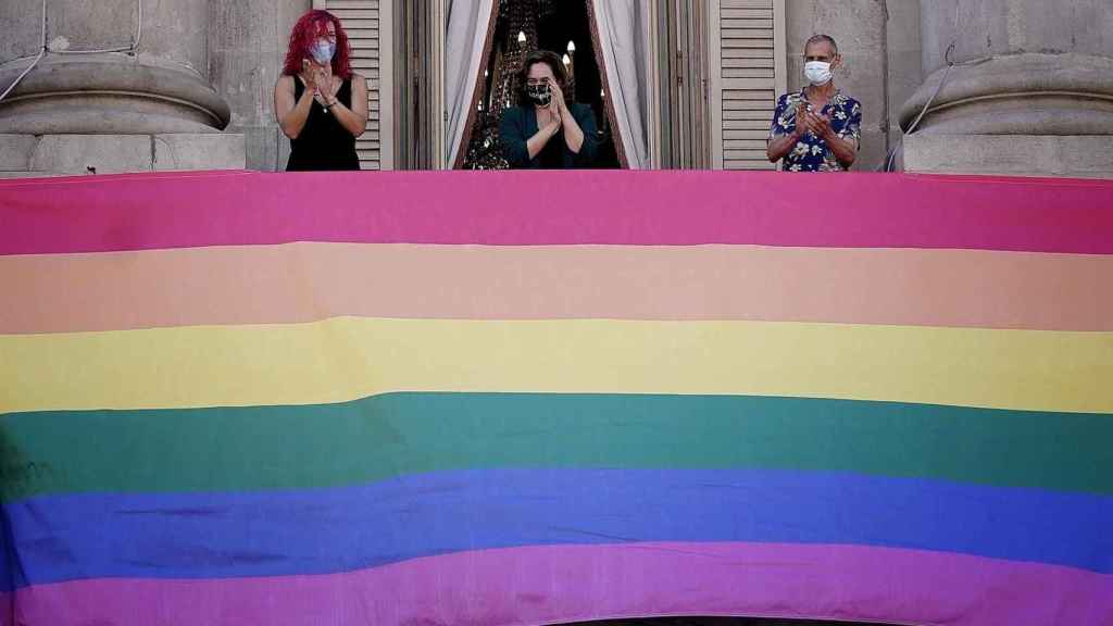
[[[499,135],[513,168],[591,167],[599,149],[595,115],[588,105],[568,102],[568,78],[555,52],[538,50],[522,62],[519,106],[503,111]]]

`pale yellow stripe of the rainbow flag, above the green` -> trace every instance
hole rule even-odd
[[[0,338],[0,412],[393,391],[708,393],[1113,412],[1113,333],[341,317]]]

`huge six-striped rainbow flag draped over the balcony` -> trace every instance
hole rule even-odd
[[[0,624],[1113,624],[1113,184],[0,183]]]

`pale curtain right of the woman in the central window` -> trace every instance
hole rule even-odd
[[[649,4],[643,0],[594,0],[591,6],[622,148],[631,168],[646,169],[650,167]]]

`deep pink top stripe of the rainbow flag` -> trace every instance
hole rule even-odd
[[[293,241],[1113,254],[1113,183],[726,172],[195,174],[0,185],[0,254]]]

